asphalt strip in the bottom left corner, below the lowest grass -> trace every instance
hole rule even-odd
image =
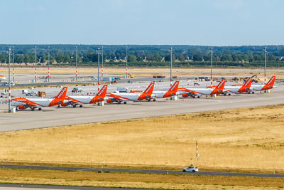
[[[55,185],[30,185],[30,184],[0,184],[0,190],[47,190],[47,189],[80,189],[80,190],[137,190],[132,188],[113,188],[113,187],[95,187],[95,186],[55,186]],[[141,189],[148,190],[148,189]]]

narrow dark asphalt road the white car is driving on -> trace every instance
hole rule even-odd
[[[44,167],[28,165],[8,165],[0,164],[0,168],[17,168],[17,169],[47,169],[62,171],[111,171],[111,172],[128,172],[128,173],[146,173],[146,174],[190,174],[190,175],[209,175],[209,176],[257,176],[257,177],[284,177],[284,174],[256,174],[256,173],[234,173],[234,172],[182,172],[172,170],[154,170],[154,169],[111,169],[111,168],[87,168],[87,167]]]

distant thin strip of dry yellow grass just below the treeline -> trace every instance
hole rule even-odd
[[[52,74],[67,74],[67,73],[74,73],[75,68],[50,68],[50,73]],[[8,73],[7,68],[0,68],[0,73]],[[16,68],[16,73],[34,73],[33,68]],[[46,74],[47,68],[37,68],[38,75]],[[97,73],[97,68],[78,68],[78,73]],[[118,74],[124,75],[125,69],[124,68],[104,68],[104,73],[107,74]],[[169,76],[169,68],[130,68],[129,73],[135,76],[149,76],[149,75],[165,75]],[[182,76],[209,76],[210,70],[208,68],[173,68],[173,75],[182,77]],[[222,76],[222,77],[248,77],[251,75],[259,75],[260,77],[263,75],[263,71],[261,69],[254,69],[254,68],[215,68],[214,69],[215,76]],[[267,70],[267,75],[272,76],[276,75],[278,78],[284,75],[284,70]]]

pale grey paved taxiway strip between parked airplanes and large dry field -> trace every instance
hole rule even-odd
[[[198,99],[187,97],[175,101],[159,99],[156,102],[129,102],[127,105],[113,103],[103,107],[94,105],[84,105],[82,108],[43,107],[43,111],[23,110],[15,114],[0,113],[0,132],[261,105],[277,105],[284,102],[283,97],[284,86],[278,86],[278,88],[271,90],[271,93],[257,92],[256,94],[244,95],[220,95],[218,97],[201,97]],[[0,105],[0,111],[5,110],[6,106]]]

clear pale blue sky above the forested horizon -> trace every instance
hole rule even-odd
[[[0,43],[284,44],[282,0],[9,0]]]

